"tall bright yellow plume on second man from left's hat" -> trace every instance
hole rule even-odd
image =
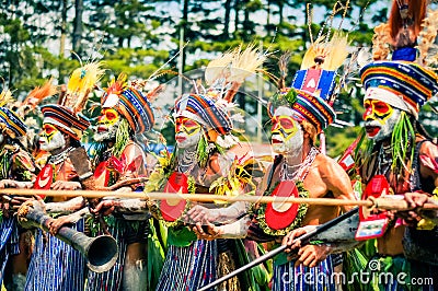
[[[67,97],[64,105],[72,107],[74,113],[83,109],[89,93],[105,72],[101,67],[101,61],[90,62],[72,72],[67,84]]]

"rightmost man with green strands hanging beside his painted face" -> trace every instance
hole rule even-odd
[[[360,166],[367,185],[362,198],[381,193],[433,194],[438,186],[438,147],[418,123],[420,106],[438,92],[438,77],[428,67],[427,58],[437,34],[437,12],[430,12],[424,20],[422,31],[426,2],[402,3],[394,1],[390,23],[376,27],[374,61],[360,70],[366,89],[364,120],[369,138],[369,151]],[[388,43],[394,48],[391,60],[387,60],[391,53]],[[436,286],[437,226],[424,230],[423,222],[418,222],[406,228],[384,213],[376,213],[368,220],[381,224],[376,232],[374,259],[380,263],[380,271],[391,272],[394,278],[387,284],[379,282],[380,290],[433,290],[433,286],[411,284],[411,278],[433,277]],[[405,280],[396,280],[400,272],[406,273]]]

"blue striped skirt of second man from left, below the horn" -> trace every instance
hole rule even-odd
[[[83,220],[73,229],[83,232]],[[36,231],[35,246],[26,277],[26,291],[79,291],[84,287],[85,258],[79,251]]]

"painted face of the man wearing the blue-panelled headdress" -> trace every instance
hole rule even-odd
[[[272,143],[275,152],[301,152],[303,141],[303,131],[296,119],[286,115],[273,117]]]

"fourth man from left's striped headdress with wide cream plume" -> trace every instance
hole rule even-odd
[[[221,147],[235,144],[237,138],[230,132],[233,120],[242,118],[240,114],[232,113],[235,108],[233,97],[244,80],[254,74],[265,59],[266,56],[249,45],[245,49],[239,46],[211,60],[205,70],[209,88],[204,93],[185,94],[177,98],[174,117],[192,118],[207,131],[212,130],[216,135],[210,135],[210,139]]]

